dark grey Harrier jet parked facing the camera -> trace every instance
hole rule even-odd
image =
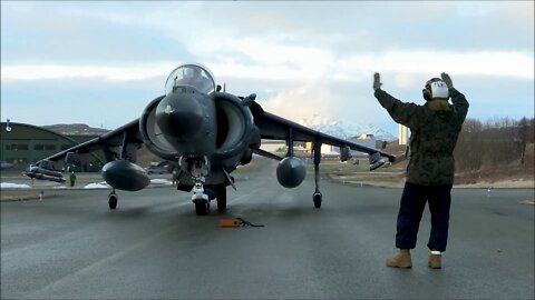
[[[256,94],[234,96],[215,84],[212,72],[202,64],[187,63],[174,69],[165,82],[165,94],[150,101],[140,117],[101,137],[58,152],[36,163],[48,169],[56,163],[76,166],[85,153],[104,149],[108,162],[103,177],[113,188],[110,209],[117,207],[115,190],[138,191],[149,184],[146,171],[135,164],[136,153],[145,144],[159,158],[178,169],[177,190],[192,192],[197,214],[206,214],[210,201],[218,211],[226,209],[226,188],[234,187],[231,173],[251,162],[253,153],[279,160],[276,179],[285,188],[304,180],[305,163],[293,153],[296,141],[312,142],[315,191],[312,200],[321,207],[319,164],[321,144],[340,147],[340,160],[351,158],[350,150],[370,157],[370,170],[395,157],[358,143],[328,136],[268,111],[255,102]],[[285,140],[285,157],[262,150],[262,140]],[[38,170],[38,169],[36,169]]]

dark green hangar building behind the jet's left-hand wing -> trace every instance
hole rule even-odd
[[[64,126],[64,128],[68,127]],[[71,127],[76,129],[80,124]],[[81,127],[89,128],[87,126]],[[30,163],[104,133],[94,132],[95,130],[89,130],[89,132],[79,132],[79,130],[65,132],[65,130],[50,130],[46,127],[9,122],[9,120],[8,122],[1,122],[0,129],[0,160],[2,163],[12,164],[13,170],[23,170]],[[87,162],[80,166],[80,168],[76,168],[76,171],[99,171],[105,161],[104,152],[96,151],[88,158]]]

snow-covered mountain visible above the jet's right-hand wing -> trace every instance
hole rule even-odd
[[[319,114],[313,114],[310,118],[305,118],[301,120],[300,123],[320,132],[342,139],[349,139],[360,134],[373,134],[377,140],[383,141],[393,141],[397,139],[392,133],[371,124],[362,126]]]

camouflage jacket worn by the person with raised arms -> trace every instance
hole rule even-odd
[[[465,96],[451,88],[453,104],[434,100],[424,106],[401,102],[381,89],[377,89],[374,96],[396,122],[410,128],[407,182],[421,186],[454,183],[454,149],[468,112]]]

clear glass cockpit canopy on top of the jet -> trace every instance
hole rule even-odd
[[[173,70],[165,81],[165,94],[173,92],[174,87],[179,86],[189,86],[206,94],[212,94],[215,91],[212,72],[197,63],[181,64]]]

